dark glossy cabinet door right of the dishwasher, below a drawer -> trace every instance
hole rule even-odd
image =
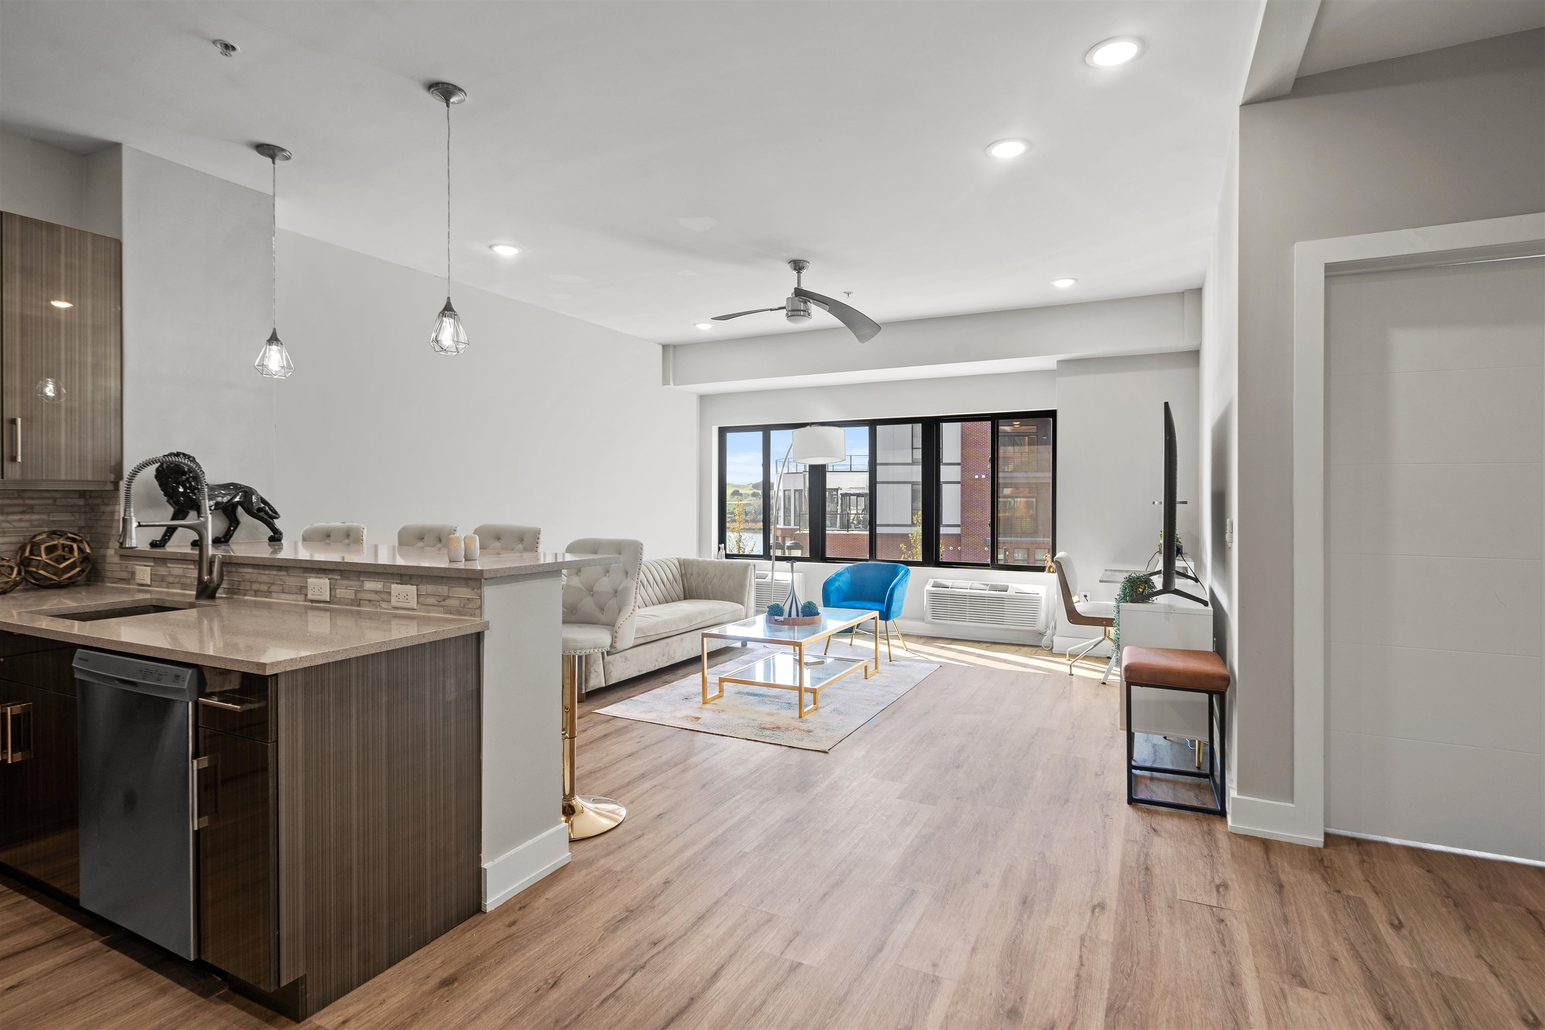
[[[263,990],[280,987],[272,750],[249,737],[198,732],[199,957]]]

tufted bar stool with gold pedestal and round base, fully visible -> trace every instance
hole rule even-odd
[[[480,539],[480,537],[479,537]],[[621,554],[621,562],[576,568],[564,576],[564,822],[569,840],[604,834],[627,817],[609,797],[579,797],[575,786],[575,740],[579,735],[579,698],[590,655],[633,645],[638,613],[638,570],[644,564],[640,540],[586,537],[564,548],[570,554]]]

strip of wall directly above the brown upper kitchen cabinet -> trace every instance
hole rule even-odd
[[[0,210],[117,236],[117,147],[87,156],[0,130]]]

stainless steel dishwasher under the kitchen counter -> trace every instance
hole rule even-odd
[[[196,666],[76,652],[80,906],[196,957]]]

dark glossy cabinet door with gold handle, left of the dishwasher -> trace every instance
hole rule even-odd
[[[76,700],[0,679],[0,862],[80,893]]]

